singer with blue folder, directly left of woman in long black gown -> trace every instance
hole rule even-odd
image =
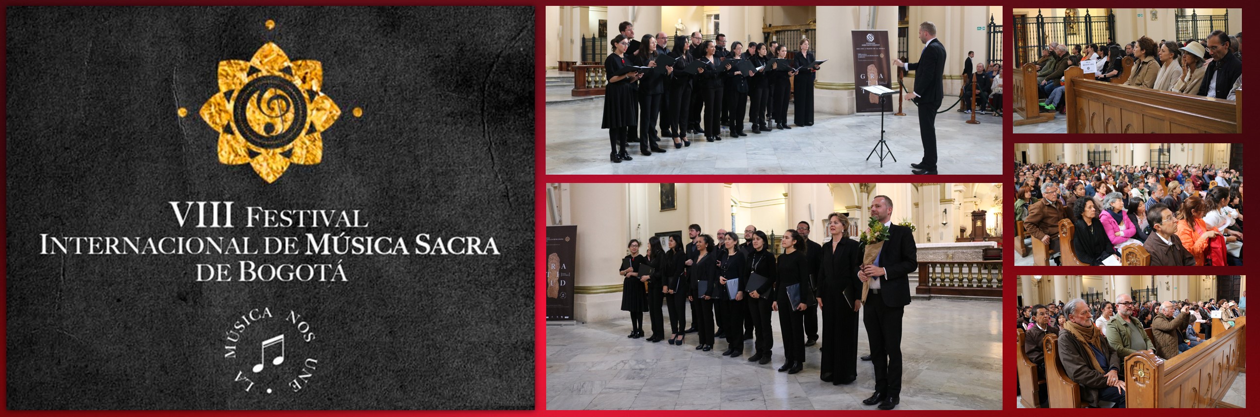
[[[780,47],[782,48],[782,47]],[[805,260],[805,239],[796,231],[785,231],[782,237],[784,254],[779,256],[779,283],[776,286],[776,299],[771,309],[779,311],[779,331],[784,338],[784,355],[786,358],[779,372],[795,374],[805,364],[805,329],[803,326],[801,312],[805,311],[806,300],[813,301],[814,295],[809,287],[809,262]],[[789,301],[789,286],[800,287],[800,300],[796,305]]]

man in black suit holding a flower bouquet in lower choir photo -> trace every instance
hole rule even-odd
[[[901,319],[910,304],[907,276],[919,268],[919,262],[910,228],[890,220],[892,200],[888,197],[876,195],[871,200],[871,217],[888,228],[888,239],[883,242],[874,262],[863,265],[858,271],[858,280],[871,282],[862,321],[871,344],[871,362],[874,364],[874,394],[862,403],[892,409],[901,402]]]

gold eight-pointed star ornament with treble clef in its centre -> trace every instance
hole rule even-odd
[[[219,132],[219,163],[249,164],[267,183],[290,164],[320,163],[320,132],[341,110],[320,91],[319,60],[290,60],[268,42],[249,60],[220,60],[218,78],[219,92],[202,105],[200,115]]]

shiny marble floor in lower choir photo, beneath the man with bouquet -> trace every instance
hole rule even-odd
[[[906,306],[903,379],[897,409],[1000,409],[1000,302],[915,300]],[[689,315],[689,314],[688,314]],[[648,320],[648,315],[644,315]],[[669,316],[665,315],[668,331]],[[819,379],[819,348],[805,348],[805,369],[782,365],[779,317],[772,316],[774,359],[747,362],[687,345],[627,339],[630,319],[547,326],[548,409],[876,409],[862,399],[874,391],[874,370],[858,362],[858,379],[833,386]],[[650,326],[650,324],[649,324]],[[858,354],[869,353],[858,325]],[[648,329],[650,333],[650,328]]]

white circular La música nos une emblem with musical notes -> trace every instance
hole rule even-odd
[[[223,359],[232,389],[249,394],[297,393],[315,377],[314,328],[301,312],[258,307],[237,316],[223,333]]]

